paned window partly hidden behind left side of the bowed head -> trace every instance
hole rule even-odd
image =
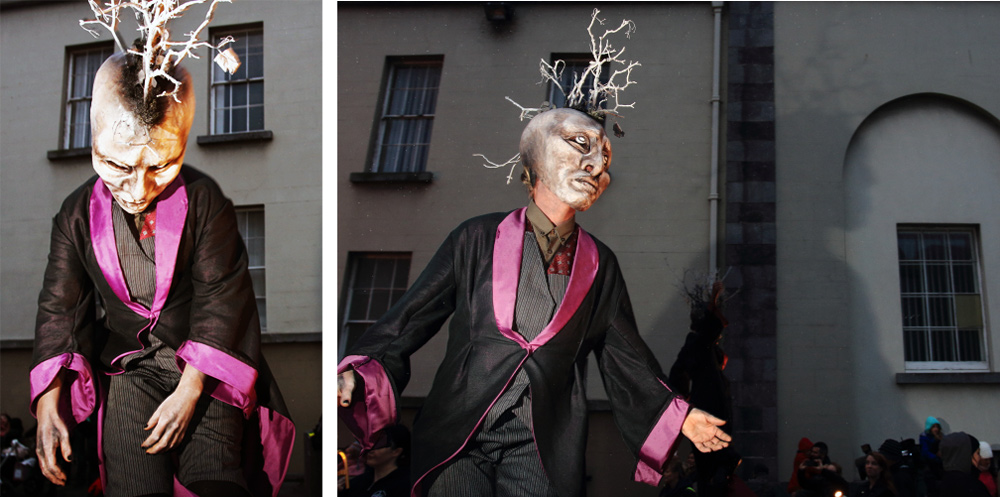
[[[66,110],[63,121],[63,149],[90,146],[90,100],[94,75],[111,56],[111,44],[74,48],[66,51]]]

